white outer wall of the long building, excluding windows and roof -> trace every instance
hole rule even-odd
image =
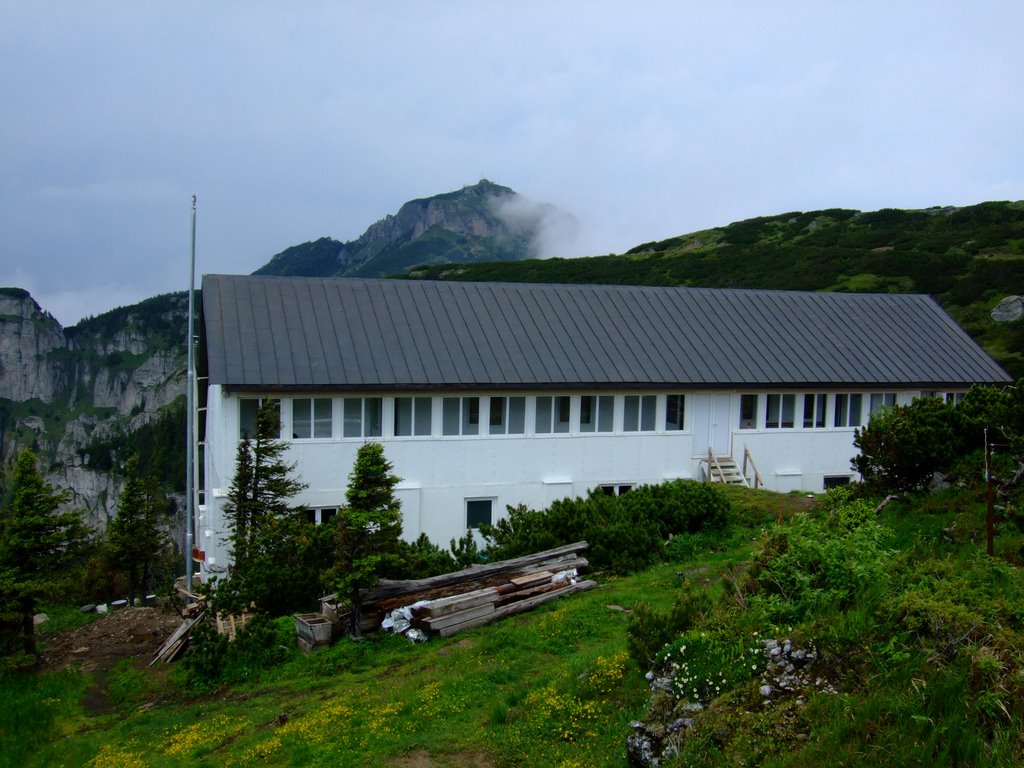
[[[459,393],[473,395],[475,393]],[[485,396],[486,393],[476,393]],[[556,499],[583,496],[597,485],[658,483],[673,478],[700,477],[700,459],[710,444],[719,443],[720,455],[730,451],[737,462],[743,446],[751,452],[765,486],[790,492],[820,492],[829,475],[853,476],[852,427],[766,428],[764,395],[757,425],[740,429],[740,392],[687,392],[683,431],[665,431],[665,397],[658,398],[655,432],[624,432],[623,395],[615,393],[615,431],[611,433],[530,434],[534,398],[527,396],[525,435],[439,436],[441,396],[433,407],[430,437],[393,437],[391,397],[384,398],[383,436],[374,437],[402,478],[397,496],[402,502],[403,536],[413,540],[421,532],[446,546],[466,531],[466,500],[494,500],[495,519],[506,507],[525,504],[543,509]],[[537,394],[537,393],[534,393]],[[601,393],[608,394],[608,393]],[[664,393],[663,393],[664,394]],[[901,392],[898,401],[908,402],[915,392]],[[244,396],[244,395],[243,395]],[[308,488],[294,500],[307,507],[344,504],[348,475],[361,438],[341,438],[341,396],[334,396],[335,436],[330,439],[291,440],[286,460],[295,462],[297,474]],[[799,401],[798,396],[798,401]],[[834,397],[829,395],[829,403]],[[863,421],[867,419],[864,398]],[[223,504],[234,472],[239,436],[239,396],[211,386],[207,402],[207,437],[204,452],[204,504],[197,524],[197,546],[206,552],[206,571],[226,564]],[[829,406],[831,408],[831,406]],[[573,417],[579,418],[573,399]],[[486,430],[481,408],[481,428]],[[284,400],[283,432],[291,431],[291,410]],[[799,419],[798,422],[800,423]],[[828,412],[826,424],[833,424]],[[724,450],[722,450],[724,449]]]

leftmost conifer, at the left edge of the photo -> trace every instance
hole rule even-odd
[[[81,512],[59,511],[67,498],[43,479],[35,454],[23,450],[10,504],[0,512],[0,583],[20,615],[23,648],[37,662],[36,603],[55,588],[61,568],[78,553],[87,532]]]

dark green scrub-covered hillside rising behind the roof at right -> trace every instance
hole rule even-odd
[[[1024,321],[989,315],[1024,294],[1024,202],[923,211],[794,212],[645,243],[622,255],[418,268],[426,280],[609,283],[934,296],[1012,376]]]

